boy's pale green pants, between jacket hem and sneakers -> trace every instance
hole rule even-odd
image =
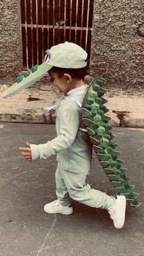
[[[56,195],[59,203],[68,206],[71,199],[84,203],[90,207],[108,209],[113,204],[113,199],[106,193],[92,189],[85,183],[87,173],[75,173],[65,170],[58,162],[56,170]]]

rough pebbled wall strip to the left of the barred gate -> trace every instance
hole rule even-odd
[[[0,79],[14,78],[20,71],[18,1],[0,1]]]

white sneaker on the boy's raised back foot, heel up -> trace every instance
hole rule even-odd
[[[115,197],[115,204],[109,207],[108,212],[110,218],[113,219],[113,224],[116,229],[121,229],[124,225],[125,211],[126,211],[126,197],[124,196],[113,196]]]

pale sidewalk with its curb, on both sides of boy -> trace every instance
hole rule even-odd
[[[0,122],[55,123],[54,111],[50,114],[43,108],[59,101],[60,93],[48,85],[36,85],[9,98],[0,92]],[[144,127],[144,97],[107,92],[104,98],[112,126]]]

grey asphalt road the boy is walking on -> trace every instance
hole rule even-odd
[[[43,206],[56,198],[56,156],[29,163],[19,147],[26,141],[45,143],[56,136],[54,125],[3,123],[0,129],[0,255],[1,256],[143,256],[144,203],[127,207],[123,229],[113,227],[106,210],[73,202],[74,213],[47,214]],[[144,130],[113,128],[131,184],[143,201]],[[93,153],[88,181],[115,194]]]

